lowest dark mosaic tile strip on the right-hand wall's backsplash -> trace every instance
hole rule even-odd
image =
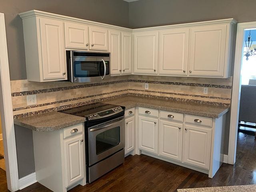
[[[140,96],[140,97],[149,97],[149,98],[155,98],[155,99],[167,99],[167,100],[173,100],[173,101],[190,102],[190,103],[218,105],[218,106],[225,106],[225,107],[230,106],[229,103],[201,101],[201,100],[184,99],[184,98],[176,98],[176,97],[166,97],[166,96],[155,96],[155,95],[140,94],[140,93],[129,93],[129,95],[131,95],[131,96]]]

